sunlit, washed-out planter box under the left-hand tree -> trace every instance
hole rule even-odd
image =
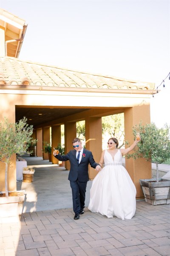
[[[0,192],[0,218],[20,216],[23,212],[23,204],[26,197],[25,190]]]

